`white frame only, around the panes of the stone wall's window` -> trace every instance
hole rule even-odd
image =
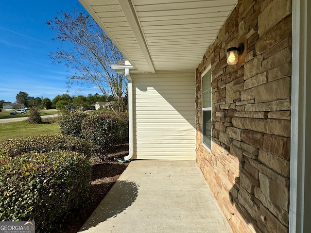
[[[207,108],[203,108],[203,77],[207,74],[208,71],[211,71],[211,66],[209,65],[207,67],[207,69],[201,74],[201,144],[208,150],[211,152],[212,148],[213,148],[213,132],[212,132],[212,128],[210,131],[210,148],[204,143],[204,134],[203,134],[203,116],[204,116],[204,111],[210,111],[210,119],[212,120],[212,91],[211,91],[211,98],[210,98],[210,107]],[[210,74],[210,80],[212,81],[212,74]],[[210,88],[211,84],[210,84]]]

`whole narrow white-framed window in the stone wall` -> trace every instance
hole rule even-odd
[[[202,75],[202,143],[212,149],[212,88],[210,69]]]

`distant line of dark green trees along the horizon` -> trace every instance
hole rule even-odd
[[[43,97],[32,97],[29,96],[27,92],[20,91],[16,95],[16,103],[24,104],[25,107],[31,108],[35,106],[36,108],[46,108],[46,109],[59,109],[62,110],[64,108],[74,108],[80,110],[86,110],[89,108],[91,104],[96,102],[105,102],[110,101],[113,102],[114,98],[112,96],[108,97],[108,100],[98,93],[92,95],[88,94],[87,96],[76,96],[71,97],[68,94],[62,94],[56,96],[54,99],[50,100],[49,98]],[[6,102],[5,100],[0,100],[0,109],[3,107],[3,103],[11,103]]]

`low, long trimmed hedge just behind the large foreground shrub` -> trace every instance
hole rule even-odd
[[[0,145],[0,154],[17,156],[28,151],[50,152],[53,150],[69,150],[90,155],[91,148],[86,140],[67,135],[41,135],[12,139]]]

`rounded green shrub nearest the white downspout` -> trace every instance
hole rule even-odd
[[[81,134],[90,143],[93,153],[105,159],[118,140],[118,117],[108,113],[89,114],[82,123]]]

